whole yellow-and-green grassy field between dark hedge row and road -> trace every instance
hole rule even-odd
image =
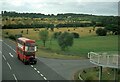
[[[68,59],[79,59],[78,57],[87,57],[87,53],[90,51],[95,52],[108,52],[108,51],[117,51],[118,50],[118,36],[115,35],[107,35],[107,36],[97,36],[95,31],[89,33],[89,30],[92,30],[92,27],[86,28],[55,28],[54,32],[76,32],[79,33],[80,38],[74,39],[74,44],[67,51],[61,51],[60,47],[55,39],[48,39],[46,42],[46,48],[43,48],[43,43],[39,39],[39,31],[34,31],[33,29],[29,29],[29,34],[26,29],[6,29],[4,33],[8,32],[8,34],[20,34],[23,30],[22,35],[24,37],[28,37],[36,40],[38,45],[37,54],[42,57],[49,58],[68,58]],[[96,28],[97,29],[97,28]],[[40,29],[44,30],[44,29]],[[49,30],[49,36],[51,36],[54,32]],[[4,35],[4,34],[3,34]]]

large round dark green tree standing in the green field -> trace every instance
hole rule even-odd
[[[73,45],[73,35],[68,32],[64,32],[58,37],[58,44],[61,47],[61,50],[68,49],[68,47]]]

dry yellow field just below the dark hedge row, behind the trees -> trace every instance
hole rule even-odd
[[[100,27],[96,27],[100,28]],[[80,28],[55,28],[54,32],[76,32],[80,35],[80,37],[85,37],[85,36],[93,36],[96,35],[95,31],[92,31],[93,27],[80,27]],[[41,28],[39,30],[44,30],[44,28]],[[69,31],[68,31],[69,30]],[[89,33],[89,30],[91,30],[91,33]],[[23,31],[23,33],[21,33]],[[39,40],[39,31],[34,31],[34,29],[28,29],[28,34],[27,34],[27,29],[5,29],[3,30],[4,33],[8,32],[8,34],[22,34],[24,37],[28,37],[30,39],[34,40]],[[49,29],[49,36],[51,36],[54,32],[52,32]],[[4,34],[3,33],[3,34]]]

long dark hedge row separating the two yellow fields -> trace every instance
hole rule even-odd
[[[2,29],[19,29],[19,28],[62,28],[62,27],[90,27],[101,26],[92,23],[66,23],[66,24],[9,24],[2,26]]]

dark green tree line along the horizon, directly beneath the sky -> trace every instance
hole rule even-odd
[[[118,24],[118,16],[98,16],[92,14],[41,14],[41,13],[18,13],[14,11],[2,11],[2,17],[29,17],[29,18],[57,18],[58,20],[94,21],[100,22],[103,26],[108,24]]]

